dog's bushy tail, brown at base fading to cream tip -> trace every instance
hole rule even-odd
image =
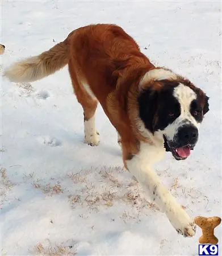
[[[38,56],[29,57],[12,64],[5,70],[12,82],[32,82],[49,76],[68,64],[69,45],[67,40],[56,44]]]

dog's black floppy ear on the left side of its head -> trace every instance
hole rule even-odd
[[[151,88],[144,89],[137,98],[139,104],[139,115],[146,129],[154,133],[153,121],[157,112],[158,92]]]

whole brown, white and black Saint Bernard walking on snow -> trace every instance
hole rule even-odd
[[[143,185],[185,237],[195,234],[193,219],[162,185],[153,164],[170,151],[176,160],[190,155],[208,112],[208,97],[192,82],[155,67],[135,40],[114,24],[93,24],[71,32],[64,42],[5,71],[14,82],[43,79],[68,64],[84,116],[85,142],[99,144],[98,102],[118,132],[125,168]]]

